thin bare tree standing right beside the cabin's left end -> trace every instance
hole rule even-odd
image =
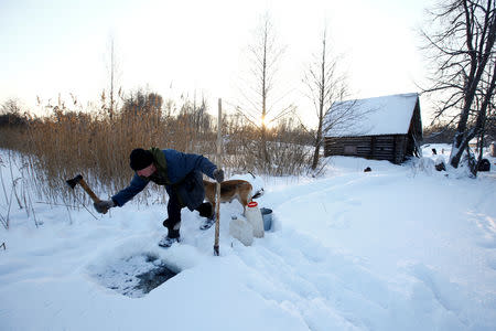
[[[324,140],[324,132],[331,129],[333,122],[326,122],[326,116],[334,102],[343,100],[347,96],[346,75],[337,71],[339,56],[333,55],[328,49],[327,29],[322,34],[322,49],[315,55],[313,63],[304,74],[304,83],[309,87],[309,97],[314,104],[317,117],[317,128],[314,135],[314,152],[312,169],[319,164],[320,150]],[[352,108],[348,109],[352,113]],[[342,118],[344,119],[344,118]]]

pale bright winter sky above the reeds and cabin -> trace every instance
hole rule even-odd
[[[325,24],[336,53],[344,54],[354,97],[419,92],[414,83],[424,79],[424,71],[416,28],[429,3],[0,0],[0,103],[15,97],[31,106],[36,96],[68,99],[69,93],[83,103],[97,102],[108,87],[106,58],[114,36],[125,90],[148,85],[164,98],[196,90],[235,104],[247,49],[266,12],[285,45],[281,90],[300,111],[309,103],[301,79]],[[425,117],[427,103],[421,107]],[[211,111],[216,114],[216,104]]]

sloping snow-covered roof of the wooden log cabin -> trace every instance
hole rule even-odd
[[[325,136],[406,135],[418,99],[410,93],[334,103],[325,118]]]

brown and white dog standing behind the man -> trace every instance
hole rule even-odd
[[[216,183],[204,180],[205,199],[212,203],[215,211],[215,188]],[[263,194],[263,189],[257,191],[251,195],[254,186],[244,180],[230,180],[220,183],[220,202],[231,202],[233,200],[239,201],[242,205],[242,212],[246,211],[246,205],[251,202],[252,199],[257,199]]]

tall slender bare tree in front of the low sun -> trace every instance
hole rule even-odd
[[[241,90],[247,104],[237,108],[238,113],[259,128],[260,157],[266,167],[271,162],[267,148],[268,125],[294,109],[293,105],[280,107],[279,102],[283,97],[278,98],[274,93],[274,78],[283,52],[284,49],[276,41],[270,17],[266,14],[256,31],[256,41],[249,46],[250,73],[254,79],[249,88]]]

